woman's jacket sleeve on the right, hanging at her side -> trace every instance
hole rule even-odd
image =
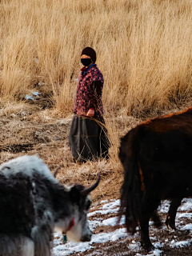
[[[102,98],[102,82],[94,81],[91,87],[93,94],[90,97],[90,109],[97,110]]]

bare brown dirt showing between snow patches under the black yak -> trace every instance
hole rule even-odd
[[[163,219],[163,218],[162,218]],[[115,228],[120,228],[123,226],[116,226]],[[192,245],[188,247],[183,248],[170,248],[170,241],[175,239],[175,233],[177,235],[177,241],[185,241],[192,238],[192,234],[190,231],[178,231],[173,232],[169,230],[157,230],[157,234],[155,232],[152,232],[154,228],[151,228],[150,230],[150,237],[155,236],[155,239],[152,240],[153,242],[164,242],[165,239],[168,240],[162,248],[159,248],[159,250],[162,250],[162,254],[164,256],[182,256],[182,255],[192,255]],[[107,227],[101,230],[100,232],[107,232],[107,231],[113,231],[112,229],[108,229]],[[98,232],[98,230],[96,230]],[[119,239],[115,242],[106,242],[103,244],[93,244],[94,249],[86,251],[86,253],[76,253],[73,255],[76,256],[82,256],[82,255],[109,255],[109,256],[135,256],[137,254],[141,255],[149,255],[152,254],[152,251],[147,250],[139,250],[138,252],[132,251],[131,248],[134,245],[134,243],[140,242],[140,236],[137,233],[137,238],[123,238]],[[154,255],[154,254],[152,254]]]

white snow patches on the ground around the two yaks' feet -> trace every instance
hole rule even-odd
[[[99,207],[98,210],[94,210],[90,214],[88,214],[88,217],[93,216],[94,220],[90,220],[90,230],[94,230],[97,226],[116,226],[118,217],[114,218],[97,218],[97,214],[107,215],[107,214],[116,214],[118,213],[118,209],[120,206],[120,200],[114,200],[111,199],[110,202],[107,200],[103,200],[100,202],[102,206]],[[158,210],[160,213],[167,213],[169,210],[170,202],[164,201],[162,202],[162,205],[158,207]],[[92,207],[91,209],[94,209]],[[180,230],[190,230],[192,233],[192,223],[190,224],[183,224],[182,219],[191,219],[192,213],[185,212],[182,213],[181,211],[190,211],[192,210],[192,198],[184,198],[182,200],[182,206],[178,208],[178,214],[176,216],[177,220],[177,226]],[[122,219],[120,221],[120,225],[125,223],[125,216],[122,216]],[[150,222],[150,226],[153,224],[153,222]],[[150,229],[154,228],[153,226],[150,227]],[[166,226],[163,226],[162,229],[166,229]],[[158,231],[157,231],[158,232]],[[114,230],[113,232],[108,233],[99,233],[99,234],[93,234],[92,239],[90,242],[67,242],[66,244],[63,244],[62,242],[62,236],[59,234],[54,234],[54,248],[53,248],[53,254],[54,256],[64,256],[64,255],[70,255],[77,252],[85,252],[86,250],[90,250],[91,248],[94,248],[94,244],[97,243],[104,243],[109,241],[118,241],[122,238],[129,238],[133,239],[138,237],[138,233],[134,234],[134,236],[130,236],[129,234],[126,234],[126,228],[118,228],[117,230]],[[174,248],[181,248],[185,246],[190,246],[192,244],[192,239],[188,239],[186,241],[177,241],[177,236],[174,236],[174,240],[170,241],[170,247]],[[162,247],[164,243],[162,242],[155,242],[157,241],[157,238],[150,237],[151,242],[153,242],[154,250],[150,252],[150,254],[147,254],[148,256],[160,256],[162,255]],[[169,242],[167,239],[165,242]],[[142,254],[139,254],[139,251],[142,249],[140,242],[135,242],[134,240],[130,245],[128,246],[129,250],[132,252],[135,252],[136,256],[143,256]],[[147,256],[146,255],[146,256]]]

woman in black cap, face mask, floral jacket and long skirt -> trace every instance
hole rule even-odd
[[[70,150],[76,160],[86,162],[109,158],[110,142],[107,138],[102,106],[103,76],[98,70],[94,49],[82,50],[83,68],[78,78],[74,102],[74,118],[70,127]]]

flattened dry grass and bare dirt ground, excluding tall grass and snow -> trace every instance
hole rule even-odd
[[[59,114],[54,115],[51,102],[48,103],[46,102],[50,107],[48,109],[46,106],[44,107],[41,100],[38,104],[22,102],[20,105],[8,106],[5,102],[0,103],[0,164],[23,154],[38,154],[50,167],[51,171],[54,172],[58,166],[61,167],[58,173],[58,179],[61,182],[82,182],[85,186],[93,183],[96,174],[100,171],[102,182],[98,190],[92,194],[93,202],[98,203],[102,199],[119,198],[119,190],[122,185],[122,166],[120,162],[117,159],[110,158],[108,161],[88,162],[82,165],[75,163],[70,154],[68,142],[72,114],[66,117],[59,116]],[[138,118],[127,118],[126,121],[122,121],[121,118],[117,117],[108,123],[115,126],[114,131],[118,131],[117,138],[120,138],[122,134],[125,134],[139,121],[141,120]],[[114,151],[112,154],[115,154]],[[107,218],[113,216],[115,214],[108,215]],[[99,216],[97,217],[99,218]],[[102,218],[105,218],[105,216],[102,216]],[[165,218],[166,214],[162,214],[163,222],[165,222]],[[191,222],[191,220],[185,221]],[[94,230],[94,234],[113,231],[119,227],[100,226]],[[152,232],[151,229],[150,232]],[[155,234],[156,242],[162,242],[166,239],[171,241],[175,234],[177,234],[178,241],[192,238],[190,231],[172,232],[162,229]],[[131,239],[119,239],[116,242],[94,244],[94,249],[84,253],[75,253],[74,255],[132,256],[136,253],[131,252],[130,245],[133,245],[133,241],[137,243],[139,240],[140,238],[137,236]],[[161,255],[164,256],[192,255],[192,245],[183,248],[170,248],[165,242],[161,250],[163,250]],[[146,255],[150,252],[140,250],[139,254]]]

